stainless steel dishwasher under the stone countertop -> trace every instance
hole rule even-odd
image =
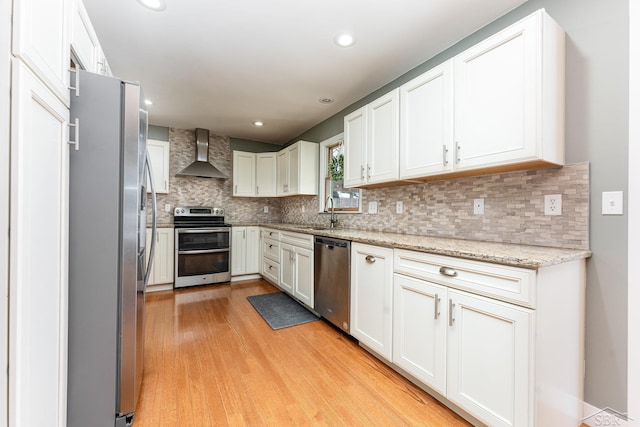
[[[351,242],[315,237],[314,310],[349,332]]]

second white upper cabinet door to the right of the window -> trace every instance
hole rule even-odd
[[[399,94],[395,89],[367,106],[367,184],[398,179]]]

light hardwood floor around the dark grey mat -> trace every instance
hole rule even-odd
[[[147,296],[134,427],[467,426],[323,320],[273,331],[263,280]]]

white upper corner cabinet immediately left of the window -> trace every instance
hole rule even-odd
[[[278,152],[277,195],[317,195],[319,145],[298,141]]]

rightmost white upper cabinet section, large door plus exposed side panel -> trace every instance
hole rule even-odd
[[[564,164],[564,45],[541,9],[455,57],[457,169]]]

